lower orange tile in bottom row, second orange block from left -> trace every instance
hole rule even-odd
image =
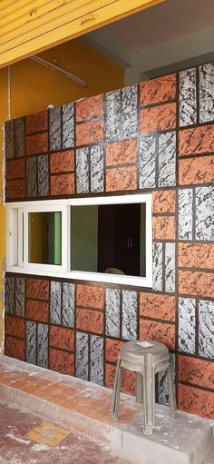
[[[74,374],[74,355],[61,350],[50,349],[49,368],[63,374]]]

